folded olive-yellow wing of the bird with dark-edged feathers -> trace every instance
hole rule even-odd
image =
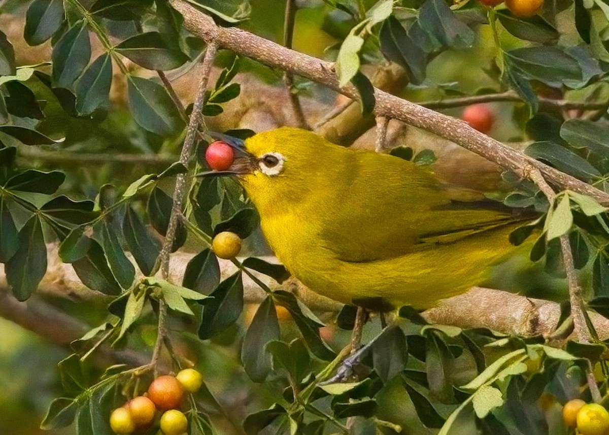
[[[431,171],[409,161],[350,155],[354,158],[340,169],[342,183],[325,193],[333,207],[317,235],[340,260],[395,258],[521,220],[497,202],[454,200],[454,191]]]

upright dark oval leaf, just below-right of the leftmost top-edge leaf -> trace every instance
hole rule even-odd
[[[53,47],[53,83],[70,88],[91,58],[89,29],[85,21],[74,24]]]

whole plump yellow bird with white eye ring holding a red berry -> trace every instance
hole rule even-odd
[[[331,299],[388,311],[465,292],[516,247],[522,224],[501,204],[457,202],[433,172],[282,127],[245,141],[238,175],[288,271]]]

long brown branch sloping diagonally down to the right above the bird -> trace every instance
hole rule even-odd
[[[203,40],[216,40],[222,48],[231,49],[266,65],[290,71],[314,82],[339,91],[352,98],[359,99],[357,90],[348,85],[340,88],[334,64],[309,55],[287,49],[272,41],[237,29],[236,27],[218,27],[213,19],[192,7],[184,0],[170,0],[173,7],[185,19],[185,26]],[[442,115],[429,108],[406,101],[389,93],[375,89],[376,115],[399,119],[459,144],[466,149],[482,155],[506,169],[512,169],[519,175],[527,165],[533,166],[553,185],[561,189],[571,189],[593,197],[603,205],[609,205],[609,194],[594,188],[588,183],[563,174],[521,152],[505,146],[470,127],[460,119]]]

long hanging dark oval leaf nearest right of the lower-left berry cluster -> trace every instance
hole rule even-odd
[[[245,373],[254,382],[262,382],[271,372],[270,355],[266,344],[280,339],[279,322],[273,298],[267,296],[247,328],[241,348],[241,362]]]

